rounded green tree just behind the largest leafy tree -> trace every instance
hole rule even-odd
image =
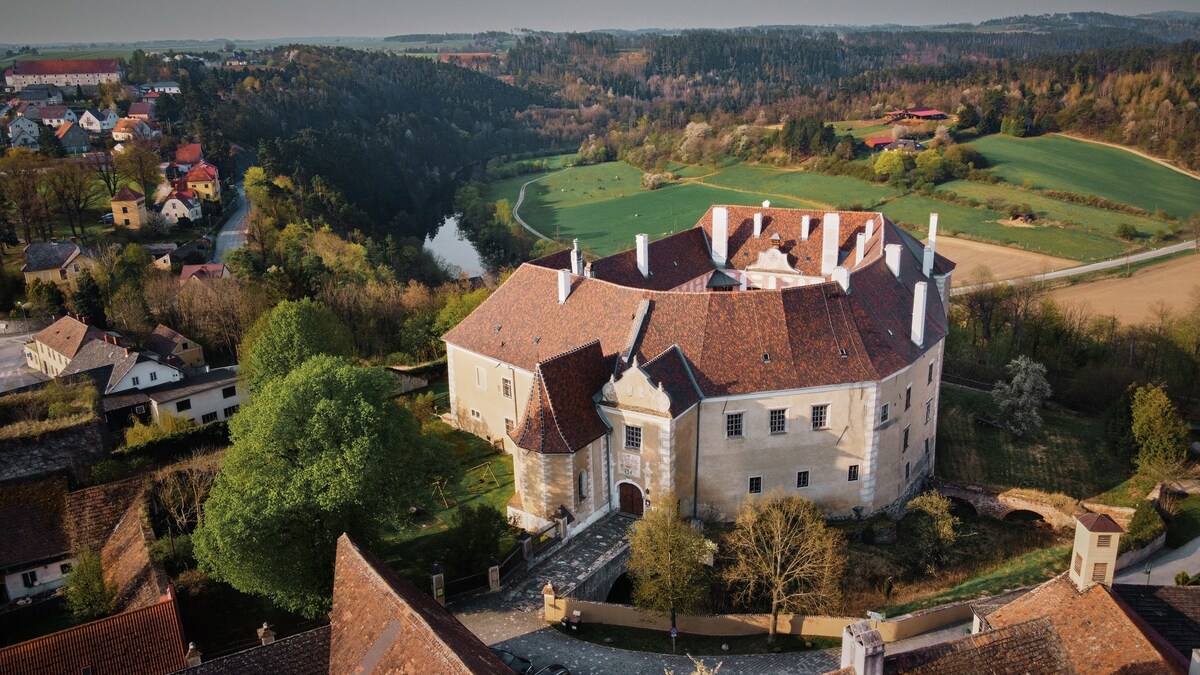
[[[241,347],[252,392],[284,377],[317,354],[349,356],[350,339],[328,306],[304,298],[284,300],[263,315]]]

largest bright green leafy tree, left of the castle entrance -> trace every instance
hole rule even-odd
[[[269,381],[229,423],[232,447],[192,536],[202,569],[316,619],[330,609],[343,532],[378,543],[454,479],[377,369],[314,357]]]

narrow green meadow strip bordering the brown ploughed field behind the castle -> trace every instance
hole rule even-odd
[[[1126,250],[1126,245],[1121,241],[1098,232],[1038,225],[1008,227],[998,222],[1007,219],[1007,214],[998,214],[985,208],[962,207],[916,195],[888,202],[883,204],[881,210],[893,222],[905,225],[922,237],[924,237],[929,225],[929,214],[936,213],[943,234],[960,233],[970,239],[1073,261],[1109,259],[1120,256]]]

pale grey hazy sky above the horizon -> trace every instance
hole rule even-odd
[[[1198,11],[1196,0],[60,0],[6,2],[0,42],[386,36],[530,28],[931,24],[1072,11]]]

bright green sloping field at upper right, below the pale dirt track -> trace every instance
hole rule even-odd
[[[972,143],[1000,178],[1034,187],[1098,195],[1187,219],[1200,213],[1200,180],[1132,153],[1062,136],[985,136]]]

